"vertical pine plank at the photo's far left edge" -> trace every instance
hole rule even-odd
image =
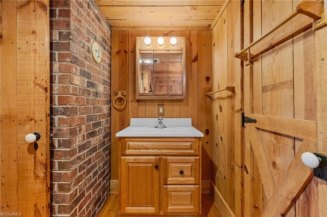
[[[2,185],[1,212],[18,210],[17,198],[17,149],[8,141],[17,138],[17,57],[16,57],[16,2],[1,2],[0,46],[0,174]],[[7,73],[12,72],[12,73]]]

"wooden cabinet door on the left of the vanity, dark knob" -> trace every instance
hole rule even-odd
[[[159,213],[159,157],[121,158],[121,213]]]

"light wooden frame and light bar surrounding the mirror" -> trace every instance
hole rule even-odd
[[[185,37],[175,37],[177,39],[177,43],[175,45],[170,44],[170,39],[172,37],[162,37],[164,38],[165,42],[162,45],[159,45],[157,43],[158,37],[149,37],[151,39],[151,43],[149,45],[144,43],[144,38],[146,37],[136,37],[136,74],[135,74],[135,94],[136,94],[136,99],[185,99],[186,97],[186,64],[185,64],[185,57],[186,57],[186,52],[185,52]],[[167,50],[167,51],[176,51],[180,50],[182,51],[182,82],[181,82],[181,90],[182,93],[179,95],[172,94],[169,95],[169,92],[167,95],[155,95],[153,94],[148,94],[148,95],[140,95],[139,94],[139,77],[141,76],[141,70],[140,70],[140,64],[139,64],[139,57],[140,57],[140,50],[153,50],[153,51],[158,51],[158,50]],[[168,73],[168,72],[167,72]]]

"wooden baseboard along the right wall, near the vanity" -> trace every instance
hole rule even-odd
[[[219,193],[217,187],[214,185],[212,181],[210,181],[210,183],[211,183],[210,196],[212,197],[214,204],[217,207],[221,216],[235,217],[235,214],[231,211],[228,204],[226,203],[222,195]]]

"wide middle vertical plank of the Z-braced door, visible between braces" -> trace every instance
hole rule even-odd
[[[292,2],[262,1],[262,33],[270,30],[292,12]],[[277,117],[294,117],[293,47],[286,41],[262,56],[262,114]],[[290,85],[284,85],[290,84]],[[294,157],[294,138],[278,133],[263,132],[262,142],[268,157],[275,184],[283,177]],[[291,210],[294,212],[294,209]],[[293,214],[290,213],[290,216]]]

